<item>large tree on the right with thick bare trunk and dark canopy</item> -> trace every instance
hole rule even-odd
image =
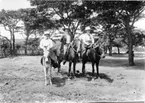
[[[100,1],[92,1],[92,2],[100,2]],[[141,18],[141,14],[144,11],[145,2],[144,1],[102,1],[100,2],[100,6],[97,3],[94,3],[94,6],[91,8],[96,11],[97,13],[104,13],[108,11],[114,12],[115,19],[121,22],[120,24],[125,30],[125,37],[127,37],[127,46],[129,49],[129,65],[134,65],[134,56],[133,56],[133,33],[132,30],[134,29],[134,23]],[[96,9],[97,8],[97,9]],[[109,14],[113,16],[112,13]],[[109,20],[110,22],[110,20]]]

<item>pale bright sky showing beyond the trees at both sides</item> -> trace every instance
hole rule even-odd
[[[17,10],[20,8],[30,8],[30,2],[28,0],[0,0],[0,10]],[[144,11],[145,14],[145,11]],[[145,18],[139,20],[134,24],[138,29],[142,29],[145,31]],[[8,38],[10,37],[9,32],[5,31],[3,27],[0,27],[0,34],[5,35]],[[23,36],[16,35],[17,39],[24,38]]]

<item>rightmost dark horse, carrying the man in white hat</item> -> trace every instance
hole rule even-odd
[[[94,72],[95,72],[94,65],[96,64],[97,77],[99,77],[99,62],[100,62],[101,58],[105,57],[104,52],[101,49],[101,47],[95,43],[92,46],[86,48],[82,52],[81,55],[82,55],[82,73],[83,73],[83,75],[85,75],[85,64],[87,62],[91,62],[93,76],[94,76]]]

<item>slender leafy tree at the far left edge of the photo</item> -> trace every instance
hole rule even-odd
[[[5,30],[10,32],[10,47],[11,47],[11,55],[15,55],[15,32],[18,32],[20,27],[17,25],[20,21],[19,19],[20,12],[17,11],[5,11],[2,10],[0,12],[0,24],[3,25]]]

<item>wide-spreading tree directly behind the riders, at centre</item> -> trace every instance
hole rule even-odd
[[[76,30],[84,22],[85,18],[90,17],[92,13],[92,11],[86,9],[86,4],[77,4],[76,1],[72,0],[30,0],[30,2],[31,5],[37,6],[38,14],[53,21],[54,28],[66,29],[68,27],[71,40],[73,40]]]

